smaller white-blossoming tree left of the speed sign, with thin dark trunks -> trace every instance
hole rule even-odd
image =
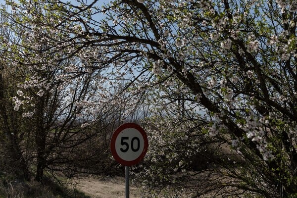
[[[95,158],[94,145],[86,144],[101,132],[92,128],[99,110],[88,104],[99,90],[94,78],[100,71],[88,70],[92,63],[84,62],[84,54],[67,57],[63,50],[51,50],[47,36],[62,41],[65,35],[31,21],[42,9],[36,6],[30,13],[30,5],[12,4],[11,12],[1,9],[1,28],[10,34],[0,35],[0,134],[13,143],[14,160],[20,161],[25,179],[35,165],[35,179],[42,182],[46,169],[71,176]],[[100,115],[103,119],[104,111]]]

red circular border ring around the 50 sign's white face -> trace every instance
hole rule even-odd
[[[141,135],[143,136],[144,138],[144,149],[142,151],[142,153],[140,154],[139,157],[137,157],[136,159],[132,160],[132,161],[126,161],[126,160],[123,160],[122,158],[119,157],[119,155],[116,153],[116,150],[115,150],[115,140],[117,138],[117,136],[124,130],[124,129],[127,129],[127,128],[134,128],[136,130],[138,130]],[[148,136],[145,132],[145,130],[135,124],[135,123],[125,123],[125,124],[122,124],[121,126],[119,126],[112,134],[111,136],[111,141],[110,141],[110,150],[111,150],[111,154],[112,156],[114,157],[114,159],[119,162],[120,164],[124,165],[124,166],[132,166],[132,165],[135,165],[137,163],[139,163],[146,155],[147,153],[147,150],[148,150]]]

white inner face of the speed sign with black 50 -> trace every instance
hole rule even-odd
[[[137,159],[144,150],[144,138],[137,129],[126,128],[120,132],[115,140],[115,150],[125,161]]]

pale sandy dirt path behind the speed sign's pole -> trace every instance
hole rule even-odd
[[[125,198],[125,178],[87,177],[75,179],[75,188],[92,198]],[[130,184],[130,198],[142,198],[140,191]]]

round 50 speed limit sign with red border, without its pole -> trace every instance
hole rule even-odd
[[[147,153],[148,137],[144,129],[135,123],[125,123],[112,134],[111,154],[124,166],[139,163]]]

